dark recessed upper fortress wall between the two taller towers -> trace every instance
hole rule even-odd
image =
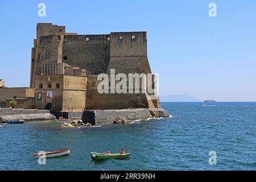
[[[89,74],[106,73],[109,64],[108,37],[109,35],[64,36],[64,63],[86,69]]]

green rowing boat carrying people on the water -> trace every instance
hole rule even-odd
[[[127,154],[101,154],[97,152],[91,152],[90,156],[92,157],[92,160],[107,160],[107,159],[128,159],[130,157],[131,153]]]

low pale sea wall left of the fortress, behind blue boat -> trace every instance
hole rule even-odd
[[[49,110],[37,109],[0,109],[0,122],[8,120],[17,120],[18,118],[25,121],[52,120],[56,117],[49,113]]]

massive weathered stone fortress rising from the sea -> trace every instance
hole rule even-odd
[[[91,110],[124,109],[134,109],[135,115],[138,109],[150,109],[169,116],[160,108],[159,97],[151,100],[147,92],[98,93],[97,76],[110,75],[110,69],[115,74],[151,73],[147,32],[77,35],[66,32],[65,26],[38,23],[31,49],[30,88],[0,88],[0,106],[10,107],[10,100],[16,100],[16,108],[51,110],[69,118]]]

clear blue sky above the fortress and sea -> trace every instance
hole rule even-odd
[[[46,17],[38,4],[46,3]],[[208,5],[217,5],[217,17]],[[256,1],[1,1],[0,78],[29,86],[36,23],[67,32],[147,31],[160,95],[256,101]]]

